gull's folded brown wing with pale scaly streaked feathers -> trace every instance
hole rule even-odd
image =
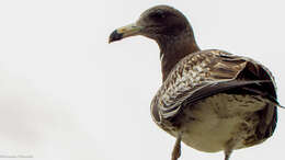
[[[185,104],[231,89],[261,94],[277,103],[273,76],[264,66],[226,52],[204,50],[173,67],[152,100],[152,116],[157,122],[171,118]]]

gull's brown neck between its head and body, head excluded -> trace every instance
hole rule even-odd
[[[162,81],[168,78],[171,69],[182,58],[200,50],[192,32],[179,36],[161,37],[157,43],[160,47]]]

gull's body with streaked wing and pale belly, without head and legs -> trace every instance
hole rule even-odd
[[[270,137],[276,123],[274,101],[274,81],[262,65],[204,50],[173,68],[152,100],[151,115],[169,134],[186,133],[182,136],[186,145],[215,152],[230,138],[241,138],[233,147],[238,149]]]

